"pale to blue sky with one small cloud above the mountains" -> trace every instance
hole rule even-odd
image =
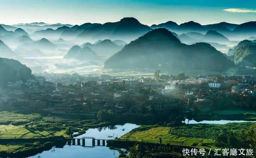
[[[0,0],[0,24],[83,24],[134,17],[142,24],[256,21],[255,0]]]

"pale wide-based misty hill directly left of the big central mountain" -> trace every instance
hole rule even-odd
[[[92,49],[96,54],[101,56],[111,56],[122,49],[123,46],[118,46],[114,44],[111,40],[102,40],[101,42],[98,42],[96,44],[91,43],[85,43],[82,44],[83,47],[89,47]]]

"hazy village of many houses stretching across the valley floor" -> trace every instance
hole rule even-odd
[[[255,100],[256,76],[246,75],[189,77],[156,72],[151,78],[117,78],[47,74],[9,82],[0,91],[1,110],[88,118],[100,110],[150,115],[177,109],[206,114],[214,109],[254,109]]]

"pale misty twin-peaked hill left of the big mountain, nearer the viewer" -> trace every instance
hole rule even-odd
[[[80,46],[72,46],[66,56],[66,59],[76,59],[76,60],[100,60],[100,57],[92,51],[89,47],[84,46],[81,48]]]

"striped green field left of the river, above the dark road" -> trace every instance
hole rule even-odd
[[[18,114],[16,112],[0,112],[0,134],[1,138],[36,138],[36,137],[47,137],[54,135],[64,135],[68,137],[65,133],[65,128],[60,128],[59,130],[47,129],[46,124],[54,124],[52,123],[55,118],[42,117],[40,114]],[[50,122],[50,120],[52,122]],[[56,122],[58,121],[66,121],[61,118],[56,118]],[[45,123],[49,122],[49,123]],[[25,124],[28,124],[25,128]],[[39,129],[30,129],[29,127],[35,127],[37,125],[41,125]],[[62,124],[60,124],[62,126]]]

